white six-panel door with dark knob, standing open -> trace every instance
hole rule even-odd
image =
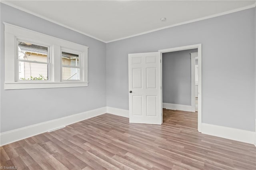
[[[130,123],[161,125],[160,52],[129,54]]]

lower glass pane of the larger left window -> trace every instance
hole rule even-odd
[[[19,61],[20,80],[48,80],[48,64]]]

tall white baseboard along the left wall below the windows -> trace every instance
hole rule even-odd
[[[0,146],[106,113],[106,107],[0,133]]]

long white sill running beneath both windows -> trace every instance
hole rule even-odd
[[[86,87],[88,82],[79,82],[79,83],[5,83],[5,90],[12,89],[47,89],[47,88],[63,88],[63,87]]]

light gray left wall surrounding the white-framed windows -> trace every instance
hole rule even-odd
[[[88,46],[89,86],[4,90],[4,25],[2,22]],[[106,106],[106,43],[2,3],[0,34],[1,132]]]

